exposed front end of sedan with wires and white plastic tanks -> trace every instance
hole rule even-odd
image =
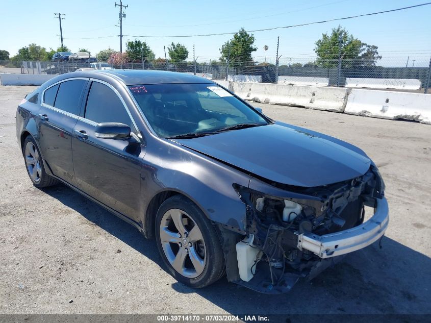
[[[283,187],[281,187],[283,188]],[[314,278],[341,259],[321,259],[300,247],[301,234],[322,236],[364,222],[384,183],[371,166],[358,178],[313,188],[296,188],[295,198],[236,187],[246,204],[246,237],[236,244],[239,284],[266,293],[289,290],[300,277]],[[292,191],[291,188],[286,190]],[[296,198],[300,194],[301,198]]]

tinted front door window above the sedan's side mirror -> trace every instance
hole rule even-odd
[[[99,82],[91,84],[85,118],[96,123],[121,122],[132,127],[132,120],[118,95],[111,88]]]

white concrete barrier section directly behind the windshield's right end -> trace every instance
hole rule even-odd
[[[337,87],[271,83],[232,82],[232,90],[243,100],[343,112],[348,89]]]

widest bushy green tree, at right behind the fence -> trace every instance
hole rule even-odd
[[[316,64],[322,67],[338,66],[340,46],[342,67],[375,66],[376,61],[382,58],[378,55],[377,46],[363,43],[341,26],[333,28],[331,35],[322,34],[315,44]]]

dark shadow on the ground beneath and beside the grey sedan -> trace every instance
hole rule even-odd
[[[136,228],[63,184],[44,192],[165,269],[155,241]],[[431,314],[431,259],[387,237],[381,245],[348,255],[311,282],[300,280],[286,294],[262,294],[226,278],[202,289],[178,282],[172,288],[197,293],[232,314]]]

